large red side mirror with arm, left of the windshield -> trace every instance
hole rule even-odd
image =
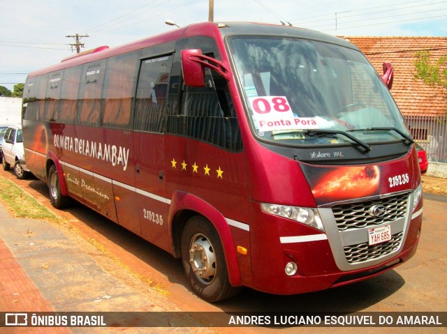
[[[204,87],[205,68],[215,70],[226,80],[230,79],[230,71],[223,62],[205,56],[198,49],[182,50],[182,73],[186,86]]]

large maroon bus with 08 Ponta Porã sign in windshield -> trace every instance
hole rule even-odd
[[[349,41],[206,22],[64,59],[24,89],[27,166],[182,258],[206,301],[365,280],[415,252],[418,155]]]

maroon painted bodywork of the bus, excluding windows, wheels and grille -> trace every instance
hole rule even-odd
[[[230,68],[221,33],[216,24],[207,22],[73,57],[29,77],[188,36],[214,38],[221,63]],[[24,121],[27,165],[36,176],[46,180],[48,162],[54,163],[64,195],[71,195],[176,257],[179,257],[179,231],[184,219],[192,214],[203,215],[219,232],[229,280],[234,286],[295,294],[356,282],[393,268],[395,265],[374,271],[382,263],[342,271],[335,264],[327,239],[281,243],[280,238],[284,236],[323,232],[263,213],[260,203],[315,208],[328,202],[413,190],[420,183],[416,151],[412,150],[404,158],[360,167],[298,163],[258,142],[252,135],[233,75],[228,75],[228,86],[244,144],[244,151],[239,153],[175,135]],[[115,161],[86,154],[87,147],[91,151],[94,145],[96,155],[99,146],[103,151],[110,149],[111,155],[115,148]],[[410,180],[391,189],[387,180],[396,171],[408,174]],[[330,188],[333,181],[356,175],[358,188]],[[416,211],[421,208],[422,202]],[[229,221],[240,222],[243,228]],[[402,252],[387,263],[395,258],[402,263],[413,255],[421,222],[422,215],[411,220]],[[247,255],[237,252],[237,246],[245,248]],[[298,264],[297,275],[284,274],[284,266],[289,261]],[[365,275],[355,275],[360,273]],[[346,275],[353,276],[339,280]]]

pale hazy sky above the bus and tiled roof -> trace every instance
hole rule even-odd
[[[0,86],[75,53],[208,20],[210,0],[0,0]],[[214,0],[214,22],[293,24],[335,36],[447,36],[442,0]]]

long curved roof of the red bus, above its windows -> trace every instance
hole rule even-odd
[[[117,47],[96,47],[93,50],[87,50],[80,54],[74,54],[62,59],[61,63],[43,68],[41,70],[35,70],[29,73],[28,77],[36,77],[37,75],[43,75],[45,73],[51,73],[71,66],[81,65],[83,63],[89,63],[98,59],[108,58],[110,56],[116,56],[118,54],[124,54],[135,50],[140,50],[145,47],[151,47],[162,43],[168,43],[173,40],[191,36],[210,36],[214,38],[223,38],[231,35],[263,35],[263,36],[284,36],[305,38],[311,40],[321,40],[327,43],[333,43],[343,45],[345,47],[355,48],[353,44],[349,43],[342,38],[330,36],[318,31],[312,31],[309,29],[302,29],[294,26],[284,26],[277,24],[266,23],[253,23],[253,22],[203,22],[189,24],[179,29],[174,29],[166,33],[161,33],[156,36],[150,36],[137,40],[125,45]]]

